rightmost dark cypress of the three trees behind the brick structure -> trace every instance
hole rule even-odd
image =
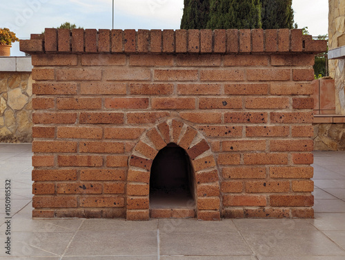
[[[262,28],[293,28],[292,0],[261,0]]]

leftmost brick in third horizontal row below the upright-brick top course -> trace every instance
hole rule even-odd
[[[32,83],[32,94],[77,94],[77,83]]]

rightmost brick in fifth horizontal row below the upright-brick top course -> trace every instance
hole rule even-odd
[[[271,112],[271,123],[313,123],[313,112]]]

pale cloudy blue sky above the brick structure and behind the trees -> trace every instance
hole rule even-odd
[[[114,0],[115,29],[179,29],[184,0]],[[328,33],[327,0],[293,0],[295,22],[313,35]],[[83,28],[111,29],[112,0],[12,0],[0,10],[0,26],[19,39],[69,21]],[[12,48],[13,49],[13,48]]]

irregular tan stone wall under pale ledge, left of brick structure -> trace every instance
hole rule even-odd
[[[32,141],[31,72],[0,72],[0,142]]]

